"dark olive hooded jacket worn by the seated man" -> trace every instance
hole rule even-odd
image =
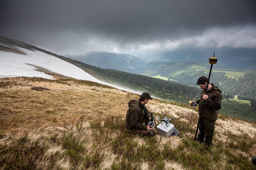
[[[130,100],[128,102],[129,109],[126,112],[126,128],[128,129],[140,129],[147,130],[147,126],[140,124],[144,115],[149,118],[150,112],[145,104],[143,105],[139,99]]]

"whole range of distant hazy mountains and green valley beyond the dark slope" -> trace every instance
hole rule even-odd
[[[148,76],[159,74],[186,85],[196,86],[195,80],[199,76],[208,77],[210,68],[208,59],[213,55],[213,53],[209,54],[209,51],[213,52],[213,50],[210,48],[191,48],[152,53],[147,57],[161,61],[150,63],[128,54],[103,52],[92,52],[84,56],[84,59],[81,56],[79,60],[101,68],[113,68]],[[248,77],[252,77],[252,80],[255,79],[255,70],[253,69],[256,69],[256,57],[254,57],[256,50],[224,47],[217,50],[218,63],[213,67],[211,82],[229,95],[238,95],[238,98],[255,98],[254,81],[250,81]]]

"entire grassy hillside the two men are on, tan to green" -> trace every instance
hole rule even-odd
[[[190,106],[154,99],[148,109],[177,117],[180,135],[133,135],[125,113],[139,95],[53,76],[0,79],[1,169],[256,169],[255,123],[220,115],[207,148],[193,141]]]

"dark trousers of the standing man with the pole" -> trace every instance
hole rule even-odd
[[[196,140],[204,142],[205,145],[211,145],[215,122],[216,120],[202,118],[199,124],[199,134],[197,135]]]

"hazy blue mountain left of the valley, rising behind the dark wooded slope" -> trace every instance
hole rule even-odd
[[[134,72],[133,70],[137,67],[144,66],[149,63],[147,60],[143,60],[129,54],[106,53],[99,51],[89,52],[86,55],[69,57],[101,68],[112,68],[126,72]]]

